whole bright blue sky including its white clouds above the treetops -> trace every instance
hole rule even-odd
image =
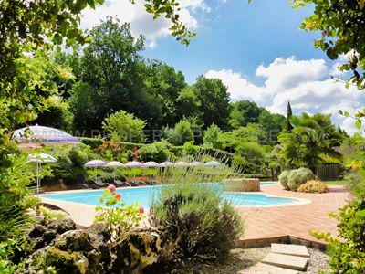
[[[81,25],[90,28],[106,16],[130,22],[132,34],[146,37],[145,58],[160,59],[182,70],[192,84],[199,75],[222,79],[231,100],[255,100],[267,110],[328,112],[333,121],[354,132],[353,121],[339,110],[354,112],[363,105],[360,93],[335,83],[343,78],[337,66],[313,47],[320,34],[306,33],[300,23],[312,6],[292,9],[287,0],[181,0],[181,18],[197,37],[189,47],[169,35],[170,22],[152,20],[143,1],[108,0],[84,13]],[[341,57],[344,59],[345,57]],[[340,61],[340,60],[339,60]]]

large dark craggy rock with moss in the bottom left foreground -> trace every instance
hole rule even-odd
[[[36,250],[23,273],[42,273],[47,267],[57,273],[141,273],[171,258],[173,248],[157,229],[126,231],[112,241],[107,227],[95,224],[69,230]]]

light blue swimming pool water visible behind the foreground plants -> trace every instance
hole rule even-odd
[[[162,190],[162,186],[144,186],[134,188],[120,188],[117,193],[122,195],[123,201],[127,205],[136,202],[139,205],[150,207],[151,199],[154,195],[158,195]],[[91,190],[85,192],[72,192],[64,194],[47,194],[41,195],[43,198],[75,202],[86,205],[100,205],[99,197],[103,194],[103,190]],[[270,197],[261,194],[249,193],[233,193],[224,192],[223,196],[235,206],[269,206],[269,205],[290,205],[297,204],[297,199],[285,197]]]

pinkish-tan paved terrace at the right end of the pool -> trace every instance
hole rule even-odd
[[[328,212],[336,212],[349,200],[349,192],[341,185],[329,185],[325,194],[305,194],[285,191],[280,184],[261,187],[261,193],[277,196],[305,198],[312,202],[307,205],[239,208],[245,217],[243,239],[292,236],[315,239],[310,230],[336,232],[337,222],[328,217]]]

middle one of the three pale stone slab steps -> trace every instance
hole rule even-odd
[[[262,259],[263,263],[273,265],[279,268],[294,269],[304,271],[308,265],[308,258],[284,255],[278,253],[269,253]]]

